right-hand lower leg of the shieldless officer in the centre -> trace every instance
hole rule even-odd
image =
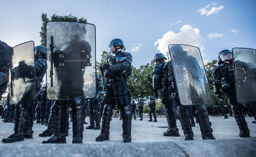
[[[129,105],[121,106],[122,120],[123,120],[123,141],[131,142],[132,136],[132,113]]]

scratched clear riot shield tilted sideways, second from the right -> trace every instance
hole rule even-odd
[[[180,103],[214,104],[199,48],[169,45],[169,53]]]

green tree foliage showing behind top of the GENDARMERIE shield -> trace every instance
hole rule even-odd
[[[46,23],[49,21],[49,18],[47,17],[47,14],[42,13],[41,19],[42,19],[42,27],[41,27],[41,31],[40,31],[41,45],[46,46],[45,45],[46,44],[45,43]],[[54,14],[51,17],[51,21],[72,21],[72,22],[87,23],[87,20],[84,19],[83,17],[78,19],[77,17],[72,16],[72,14],[66,15],[66,16],[58,16],[58,15]]]

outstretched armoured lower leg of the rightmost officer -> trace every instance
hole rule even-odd
[[[234,118],[236,120],[236,124],[240,130],[239,136],[241,138],[250,137],[250,130],[245,121],[241,105],[240,104],[231,104],[231,109],[232,109]]]

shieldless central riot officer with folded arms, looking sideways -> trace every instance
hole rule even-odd
[[[100,67],[102,75],[104,75],[104,70],[107,70],[106,77],[108,83],[102,115],[101,133],[96,138],[96,141],[109,140],[111,112],[114,106],[117,105],[123,120],[123,142],[131,142],[131,92],[127,87],[127,80],[132,73],[132,55],[122,51],[124,43],[121,39],[113,39],[109,43],[109,48],[115,56],[112,58],[110,65],[104,64]]]

